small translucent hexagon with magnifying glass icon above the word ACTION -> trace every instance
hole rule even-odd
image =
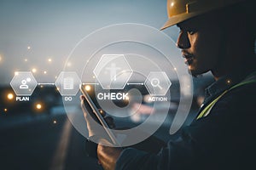
[[[165,71],[151,71],[144,82],[150,95],[164,96],[171,87],[172,82]]]

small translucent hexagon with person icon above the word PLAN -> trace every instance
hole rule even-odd
[[[18,71],[10,82],[17,96],[30,96],[37,87],[38,82],[31,71]]]

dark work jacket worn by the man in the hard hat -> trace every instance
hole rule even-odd
[[[247,74],[248,75],[248,74]],[[201,110],[245,73],[223,77],[206,90]],[[228,81],[229,80],[229,81]],[[230,90],[210,113],[183,127],[158,155],[128,148],[116,169],[256,169],[256,83]]]

